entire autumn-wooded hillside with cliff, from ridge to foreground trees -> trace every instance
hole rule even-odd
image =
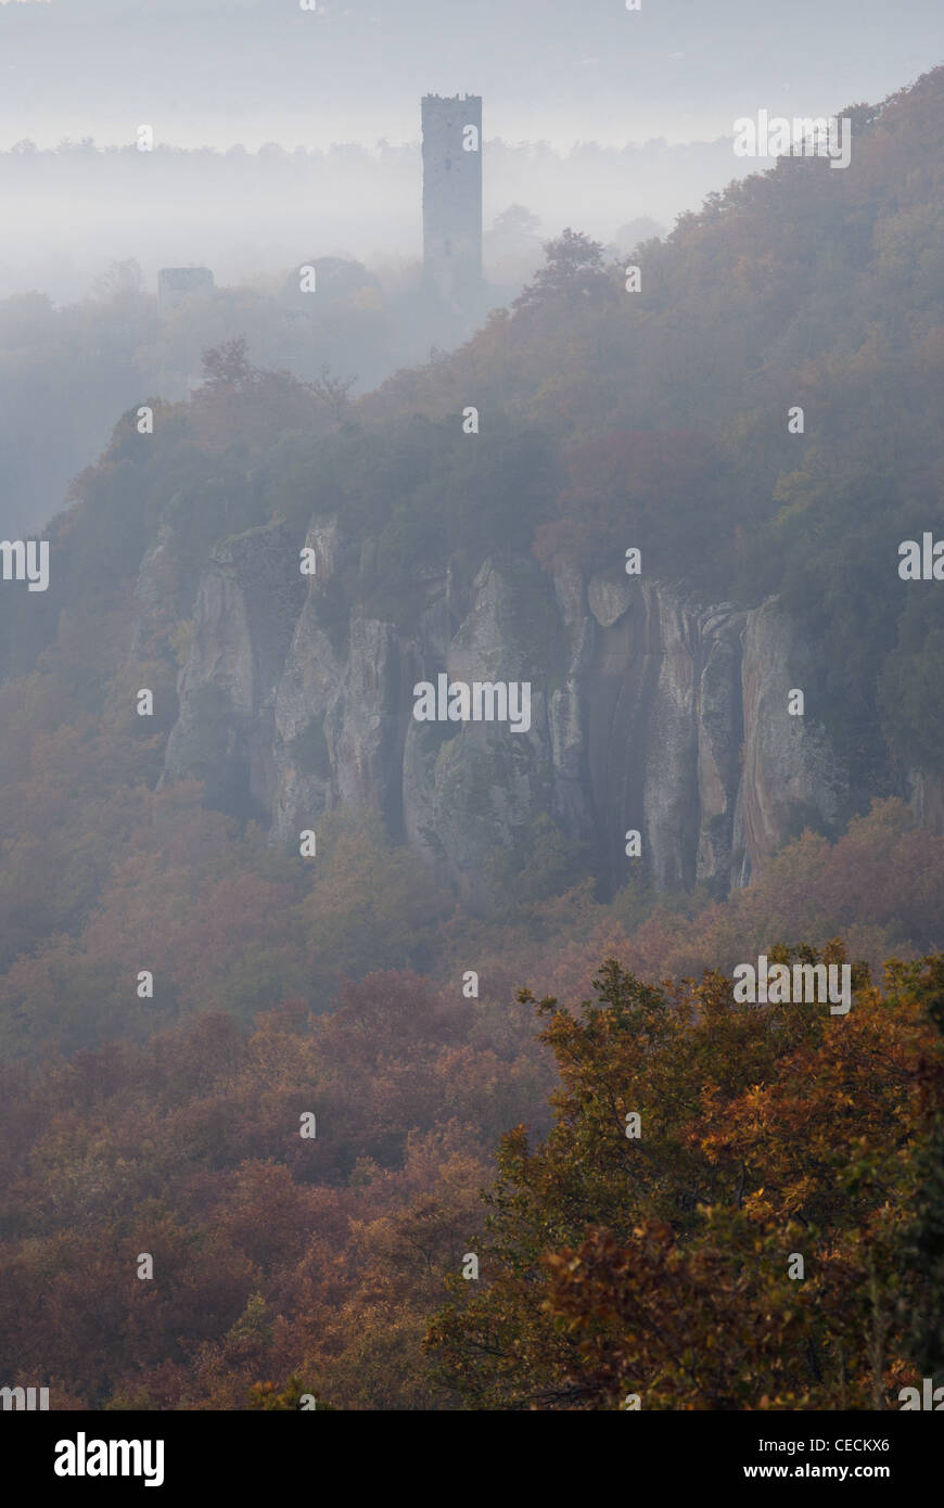
[[[130,391],[48,591],[3,584],[0,1351],[57,1407],[870,1408],[942,1365],[942,588],[899,546],[944,537],[944,69],[851,115],[847,170],[712,196],[639,293],[572,231],[363,398],[240,338]],[[704,698],[665,734],[688,670],[633,704],[659,790],[706,748],[728,783],[636,869],[656,787],[555,733],[585,624],[600,683],[650,624],[650,682],[734,667],[724,739]],[[780,639],[814,731],[757,837]],[[410,765],[407,670],[457,645],[534,679],[529,765]],[[778,949],[849,961],[849,1016],[734,1006]]]

